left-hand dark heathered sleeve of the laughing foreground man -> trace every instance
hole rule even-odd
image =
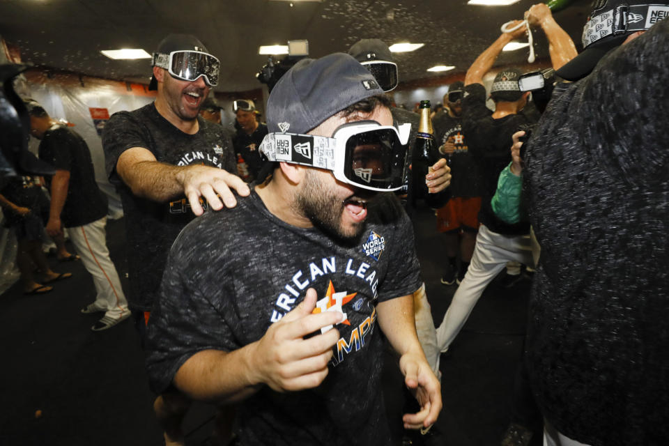
[[[197,240],[197,228],[186,226],[171,248],[151,311],[146,367],[151,388],[158,393],[171,385],[178,369],[195,353],[238,348],[226,323],[226,312],[212,303],[213,293],[226,291],[207,287],[215,281],[208,277],[210,268],[202,268],[211,261],[206,254],[209,250],[201,249],[203,245]],[[223,269],[219,271],[224,274]]]

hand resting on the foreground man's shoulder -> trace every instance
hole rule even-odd
[[[234,208],[237,204],[231,189],[243,197],[251,193],[244,180],[215,167],[191,165],[179,171],[177,179],[183,185],[183,192],[195,215],[204,212],[200,197],[206,199],[214,210],[221,210],[223,205]]]

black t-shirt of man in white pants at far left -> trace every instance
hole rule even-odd
[[[70,172],[68,196],[61,213],[63,226],[82,226],[107,215],[107,197],[95,182],[91,151],[84,138],[65,125],[55,124],[45,132],[39,156],[56,169]],[[50,189],[51,177],[45,180]]]

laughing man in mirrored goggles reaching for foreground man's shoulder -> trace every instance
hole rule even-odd
[[[224,128],[199,116],[218,82],[218,60],[194,36],[164,38],[153,59],[149,89],[155,102],[118,112],[102,134],[107,175],[118,186],[128,234],[129,304],[140,336],[160,286],[169,247],[204,206],[233,207],[249,194],[235,172]],[[180,444],[180,416],[188,404],[174,392],[155,401],[167,444]],[[174,410],[177,408],[178,410]]]

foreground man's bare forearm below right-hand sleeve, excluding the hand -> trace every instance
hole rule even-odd
[[[413,295],[380,302],[376,314],[383,334],[400,356],[418,353],[424,357],[416,333]]]

